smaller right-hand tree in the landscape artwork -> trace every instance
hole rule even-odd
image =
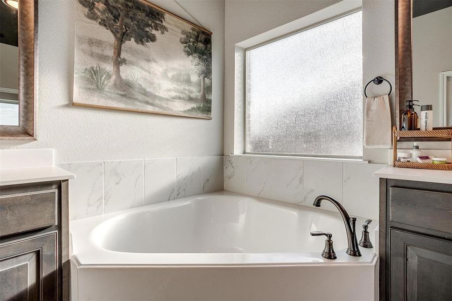
[[[207,102],[205,81],[212,79],[212,39],[206,32],[192,27],[190,31],[182,30],[181,44],[184,45],[184,53],[193,58],[193,65],[198,68],[201,79],[201,92],[199,100]]]

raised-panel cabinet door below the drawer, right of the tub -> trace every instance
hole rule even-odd
[[[452,241],[391,229],[391,300],[452,300]]]

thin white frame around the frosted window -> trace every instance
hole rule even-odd
[[[248,89],[247,89],[247,78],[246,78],[246,52],[249,51],[249,50],[252,50],[252,49],[264,46],[266,44],[269,44],[269,43],[272,43],[272,42],[275,42],[275,41],[278,41],[278,40],[290,37],[292,35],[296,35],[298,33],[310,30],[312,28],[321,26],[323,24],[327,24],[329,22],[338,20],[340,18],[346,17],[348,15],[351,15],[351,14],[354,14],[354,13],[357,13],[357,12],[360,12],[360,11],[362,11],[362,7],[361,6],[358,7],[358,8],[355,8],[353,10],[341,13],[339,15],[336,15],[336,16],[333,16],[331,18],[319,21],[317,23],[313,23],[313,24],[311,24],[309,26],[306,26],[304,28],[300,28],[298,30],[289,32],[287,34],[283,34],[281,36],[272,38],[270,40],[261,42],[259,44],[256,44],[254,46],[250,46],[250,47],[247,47],[247,48],[244,49],[243,72],[244,72],[244,92],[245,92],[245,95],[244,95],[244,110],[245,110],[245,116],[244,116],[245,117],[245,127],[244,127],[244,130],[245,130],[245,133],[244,133],[245,145],[244,145],[244,147],[245,147],[245,149],[244,149],[243,154],[245,154],[245,155],[262,155],[262,156],[306,157],[306,158],[334,158],[334,159],[362,159],[363,158],[363,155],[362,155],[363,153],[362,152],[361,152],[361,156],[339,156],[339,155],[312,155],[312,154],[303,154],[303,153],[296,153],[296,154],[293,154],[293,153],[255,153],[255,152],[247,152],[247,149],[246,149],[247,142],[248,142],[248,93],[247,93]],[[362,122],[363,122],[363,128],[364,128],[364,120],[362,120]]]

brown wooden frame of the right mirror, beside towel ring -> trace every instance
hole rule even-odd
[[[413,99],[412,0],[395,0],[395,110],[400,129],[405,102]],[[434,127],[433,129],[450,129]],[[399,141],[450,141],[450,138],[399,138]]]

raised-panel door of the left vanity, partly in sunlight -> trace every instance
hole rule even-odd
[[[0,300],[57,300],[57,234],[0,245]]]

